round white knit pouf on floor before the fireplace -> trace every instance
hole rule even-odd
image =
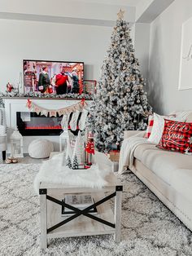
[[[47,139],[35,139],[28,145],[28,155],[33,158],[50,157],[50,152],[53,151],[53,143]]]

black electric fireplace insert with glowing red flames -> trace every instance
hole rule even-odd
[[[33,112],[16,112],[16,125],[23,136],[58,136],[62,116],[46,117]]]

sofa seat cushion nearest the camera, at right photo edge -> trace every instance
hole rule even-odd
[[[181,195],[185,196],[191,201],[192,195],[192,170],[190,169],[177,169],[171,177],[171,186]]]

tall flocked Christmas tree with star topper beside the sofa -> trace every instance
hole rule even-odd
[[[101,152],[109,151],[112,144],[120,145],[124,130],[145,130],[151,113],[143,90],[146,82],[134,56],[129,23],[123,20],[123,14],[121,10],[118,13],[88,119],[95,147]]]

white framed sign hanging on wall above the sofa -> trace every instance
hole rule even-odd
[[[179,90],[192,89],[192,17],[182,24]]]

